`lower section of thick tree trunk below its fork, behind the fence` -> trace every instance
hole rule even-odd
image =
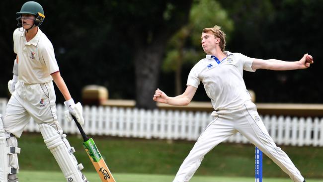
[[[144,109],[156,108],[153,100],[161,70],[162,55],[166,39],[154,41],[149,45],[136,45],[135,74],[136,74],[136,107]]]

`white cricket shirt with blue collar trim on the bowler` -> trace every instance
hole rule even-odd
[[[215,110],[236,109],[251,99],[242,76],[243,70],[255,71],[251,68],[253,58],[229,51],[224,54],[228,57],[220,64],[212,55],[206,55],[192,68],[186,84],[198,88],[202,82]]]

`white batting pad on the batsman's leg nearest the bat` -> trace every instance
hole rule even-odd
[[[83,182],[81,169],[73,153],[74,148],[66,139],[65,134],[60,134],[53,126],[39,124],[39,130],[43,135],[47,148],[51,151],[60,166],[67,182]]]

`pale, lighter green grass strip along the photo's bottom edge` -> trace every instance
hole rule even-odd
[[[101,182],[96,173],[84,173],[90,182]],[[116,182],[171,182],[172,175],[113,174]],[[24,171],[19,173],[21,182],[66,182],[61,172]],[[194,176],[190,182],[254,182],[254,178]],[[290,179],[264,178],[263,182],[291,182]],[[307,179],[307,182],[322,180]]]

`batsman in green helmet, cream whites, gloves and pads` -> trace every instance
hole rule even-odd
[[[53,81],[66,99],[67,120],[72,121],[72,114],[80,124],[84,123],[81,103],[75,104],[71,97],[60,75],[53,45],[39,28],[45,19],[43,7],[35,1],[25,2],[17,16],[18,28],[13,32],[16,59],[13,78],[8,82],[11,97],[5,116],[0,117],[0,182],[18,182],[17,138],[31,117],[39,125],[66,181],[87,182],[81,173],[82,165],[73,155],[75,150],[57,120]]]

